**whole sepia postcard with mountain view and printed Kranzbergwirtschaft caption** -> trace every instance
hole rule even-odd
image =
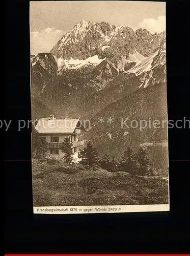
[[[34,214],[169,211],[165,9],[30,2]]]

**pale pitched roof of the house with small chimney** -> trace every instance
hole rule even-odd
[[[38,133],[73,133],[79,119],[40,118],[35,129]]]

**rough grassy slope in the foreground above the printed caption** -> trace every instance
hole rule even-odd
[[[33,160],[34,206],[167,204],[168,180]]]

